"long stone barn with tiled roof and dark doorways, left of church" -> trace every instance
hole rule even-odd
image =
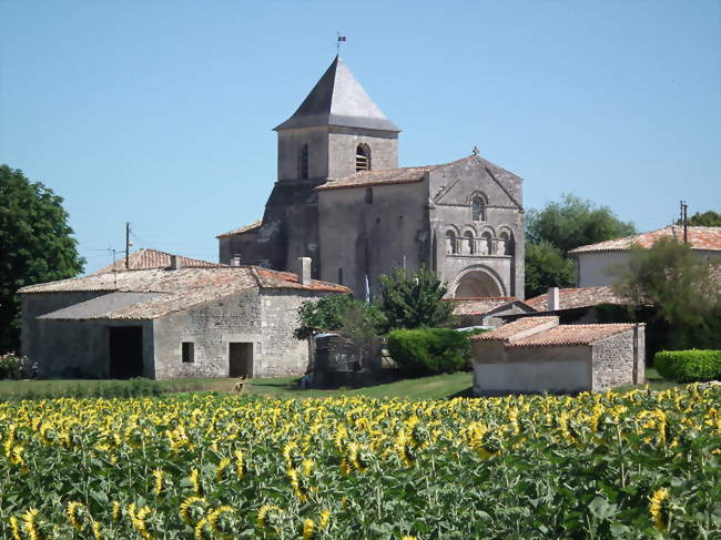
[[[164,258],[145,255],[154,263],[144,264]],[[21,288],[22,354],[37,363],[39,376],[301,375],[308,346],[293,337],[297,308],[349,293],[311,279],[309,262],[298,276],[254,266],[182,266],[179,257],[169,258],[169,267],[111,269]]]

